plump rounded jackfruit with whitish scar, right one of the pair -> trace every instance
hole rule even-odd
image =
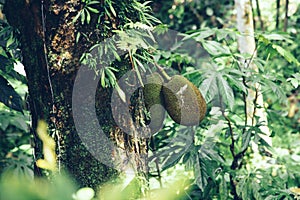
[[[198,125],[206,114],[206,102],[188,79],[175,75],[162,88],[165,108],[170,117],[185,126]]]

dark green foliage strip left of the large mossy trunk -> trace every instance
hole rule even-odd
[[[25,110],[26,79],[15,67],[20,61],[17,31],[0,21],[0,172],[33,177],[29,113]]]

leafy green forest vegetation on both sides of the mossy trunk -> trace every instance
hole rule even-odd
[[[260,3],[260,10],[256,2]],[[188,52],[178,53],[176,47],[173,51],[155,52],[155,62],[177,70],[199,87],[208,102],[208,113],[199,127],[181,127],[168,118],[163,129],[154,135],[149,153],[148,198],[300,198],[300,3],[289,2],[286,30],[285,2],[280,4],[279,24],[276,24],[276,2],[252,3],[257,45],[253,62],[259,68],[259,73],[253,76],[247,76],[247,69],[239,66],[239,58],[248,59],[249,55],[241,55],[237,49],[240,33],[236,30],[232,1],[166,0],[149,4],[153,13],[144,16],[144,24],[157,25],[157,20],[151,18],[157,17],[170,29],[201,44],[213,59],[211,65],[196,66]],[[82,13],[96,12],[88,9],[89,5],[93,7],[93,3],[87,1]],[[89,14],[83,16],[82,13],[75,21],[89,23]],[[20,196],[23,199],[92,199],[93,190],[79,190],[68,178],[62,178],[64,176],[54,174],[57,178],[53,182],[40,180],[45,190],[39,189],[40,183],[32,182],[35,159],[26,104],[26,78],[19,70],[22,57],[16,39],[18,31],[5,20],[1,20],[0,28],[0,199]],[[157,31],[163,29],[163,25],[156,26]],[[146,51],[136,51],[142,42],[137,40],[130,47],[132,58],[137,63],[139,60],[153,62]],[[88,55],[82,59],[87,64],[93,63]],[[136,66],[142,70],[141,65]],[[99,72],[105,74],[102,86],[115,86],[115,69],[105,70]],[[261,124],[248,126],[245,123],[243,94],[247,85],[242,80],[262,85],[272,146],[260,137]],[[172,145],[171,140],[175,140]],[[187,146],[187,141],[192,142]],[[252,150],[253,143],[258,145],[258,153]],[[137,188],[131,181],[124,189],[118,185],[123,181],[122,177],[111,180],[97,198],[129,199]],[[66,185],[68,189],[62,190]],[[116,194],[121,193],[120,190],[123,191],[121,196]]]

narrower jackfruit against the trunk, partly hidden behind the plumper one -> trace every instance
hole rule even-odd
[[[151,116],[149,124],[151,133],[156,133],[162,128],[166,116],[161,93],[162,85],[163,79],[157,72],[147,76],[144,86],[144,100],[146,109],[150,112]]]

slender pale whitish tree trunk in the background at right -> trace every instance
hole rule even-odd
[[[249,0],[235,0],[235,6],[237,10],[237,26],[241,33],[238,38],[238,46],[241,54],[252,55],[247,60],[242,60],[241,63],[244,67],[249,67],[254,72],[258,72],[257,66],[252,62],[256,56],[256,45],[254,39],[254,28],[253,28],[253,15]],[[263,95],[261,93],[261,86],[259,83],[248,82],[248,95],[246,98],[247,104],[247,124],[254,126],[259,122],[263,122],[263,126],[260,126],[261,131],[266,135],[261,135],[267,143],[272,144],[270,137],[270,130],[268,128],[267,114],[264,110]],[[258,117],[259,121],[255,120],[255,116]]]

